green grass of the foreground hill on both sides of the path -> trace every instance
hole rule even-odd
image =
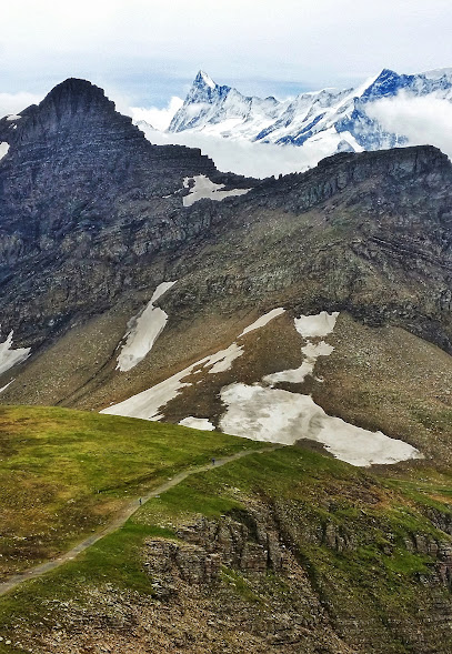
[[[34,484],[28,533],[44,525],[48,555],[51,546],[81,536],[80,527],[72,530],[69,517],[73,520],[74,512],[66,510],[68,499],[78,515],[89,515],[88,525],[96,520],[99,524],[128,495],[144,494],[182,467],[243,446],[255,443],[60,409],[6,408],[0,479],[7,491],[8,480],[19,472],[28,489]],[[388,654],[408,653],[406,643],[391,632],[391,622],[411,624],[420,611],[429,615],[439,595],[450,602],[446,588],[436,586],[433,594],[430,582],[420,583],[433,578],[436,560],[416,549],[415,540],[448,540],[429,520],[429,511],[450,516],[451,489],[451,477],[428,465],[385,479],[381,472],[375,475],[308,447],[249,454],[212,467],[147,502],[123,527],[73,561],[0,597],[0,636],[11,640],[10,645],[0,642],[0,653],[29,651],[30,633],[36,651],[44,652],[40,636],[64,623],[68,612],[90,615],[96,594],[107,587],[118,602],[121,593],[133,596],[134,603],[157,601],[143,565],[144,541],[178,540],[178,527],[200,516],[220,520],[229,514],[240,520],[250,506],[278,515],[294,560],[334,623],[373,624],[385,638]],[[24,530],[23,517],[14,523],[13,512],[4,510],[11,496],[2,501],[11,533]],[[223,566],[220,585],[222,597],[235,597],[262,615],[273,611],[272,602],[287,602],[289,607],[298,596],[290,577],[274,572],[258,578]],[[307,620],[309,615],[308,611]]]

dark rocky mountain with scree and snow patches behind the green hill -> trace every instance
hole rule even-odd
[[[449,380],[452,167],[440,151],[341,153],[304,174],[257,182],[219,173],[197,150],[151,145],[80,80],[2,128],[2,402],[242,435],[237,424],[248,421],[253,437],[257,405],[278,414],[282,402],[305,426],[270,421],[263,440],[309,437],[328,449],[338,417],[345,431],[364,430],[353,433],[365,455],[331,450],[345,461],[440,451],[449,461],[420,423],[406,433],[409,416],[394,396],[388,402],[399,419],[388,422],[376,409],[350,409],[354,381],[346,396],[329,375],[317,381],[337,358],[348,369],[349,344],[328,339],[350,329],[378,342],[383,328],[394,342],[392,330],[404,330],[403,349],[422,359],[421,344],[432,343],[441,383]],[[312,338],[297,329],[315,315],[335,316],[337,326]],[[393,375],[380,359],[386,348],[371,351]],[[369,371],[360,375],[362,385]],[[229,388],[249,393],[249,403],[239,406]],[[421,380],[415,388],[429,403]],[[392,453],[372,450],[379,439]]]

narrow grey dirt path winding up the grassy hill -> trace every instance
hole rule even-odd
[[[243,452],[237,452],[235,454],[232,454],[231,456],[225,456],[224,459],[215,459],[214,467],[220,467],[222,465],[225,465],[227,463],[230,463],[231,461],[237,461],[237,459],[242,459],[243,456],[249,456],[250,454],[263,454],[264,452],[272,452],[273,450],[278,450],[283,445],[274,445],[272,447],[265,447],[263,450],[244,450]],[[177,486],[178,484],[183,482],[183,480],[185,480],[188,476],[197,474],[199,472],[212,470],[212,464],[209,463],[205,465],[199,465],[198,467],[190,467],[188,470],[180,472],[179,474],[174,475],[173,477],[164,482],[164,484],[161,484],[147,495],[142,495],[142,503],[148,502],[148,500],[151,500],[152,497],[155,497],[161,493],[164,493],[173,486]],[[106,525],[101,531],[84,539],[84,541],[72,547],[72,550],[69,550],[58,559],[52,559],[51,561],[41,563],[36,567],[31,567],[30,570],[26,570],[19,574],[14,574],[13,576],[7,577],[6,581],[0,583],[0,596],[4,595],[6,593],[9,593],[9,591],[12,591],[13,588],[17,588],[17,586],[19,586],[21,583],[28,580],[33,580],[39,576],[42,576],[47,572],[56,570],[57,567],[60,567],[60,565],[63,565],[68,561],[71,561],[78,554],[80,554],[80,552],[84,552],[84,550],[88,550],[88,547],[100,541],[100,539],[103,539],[103,536],[106,536],[107,534],[111,534],[120,526],[122,526],[129,520],[129,517],[133,515],[133,513],[135,513],[135,511],[138,511],[139,509],[140,499],[135,497],[123,507],[123,510],[115,516],[115,519],[112,522]]]

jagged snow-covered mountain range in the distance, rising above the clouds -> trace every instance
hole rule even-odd
[[[285,101],[242,95],[200,71],[169,132],[303,147],[313,154],[317,150],[317,160],[334,152],[403,147],[405,134],[385,131],[370,115],[375,103],[400,92],[450,102],[451,69],[409,76],[384,69],[356,89],[323,89]]]

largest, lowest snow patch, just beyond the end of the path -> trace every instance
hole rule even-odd
[[[223,389],[221,400],[228,410],[219,426],[228,434],[285,445],[309,439],[359,466],[422,457],[403,441],[328,415],[310,395],[238,383]]]

